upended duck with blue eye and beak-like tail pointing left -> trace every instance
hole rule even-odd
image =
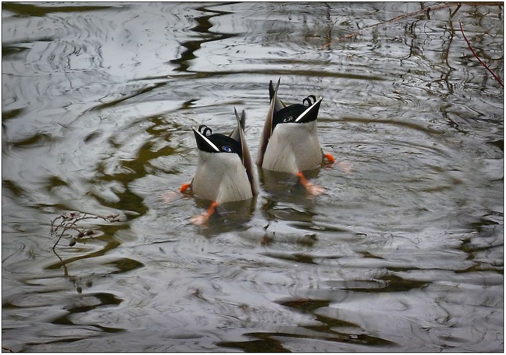
[[[197,168],[191,183],[183,184],[195,197],[212,201],[205,212],[192,217],[196,225],[206,224],[216,208],[227,202],[243,201],[258,194],[256,177],[244,135],[246,114],[239,116],[234,107],[237,125],[226,135],[200,125],[192,127],[198,149]]]

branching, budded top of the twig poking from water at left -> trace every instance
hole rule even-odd
[[[60,231],[58,235],[58,239],[56,240],[55,245],[53,246],[53,251],[55,250],[56,246],[60,242],[60,240],[64,236],[71,237],[71,234],[66,233],[66,231],[74,230],[77,231],[77,238],[82,238],[85,235],[88,235],[90,238],[93,239],[93,231],[92,230],[86,230],[77,227],[76,223],[80,222],[82,220],[86,219],[102,219],[106,222],[119,222],[119,215],[109,215],[109,216],[97,216],[97,215],[90,215],[90,214],[80,214],[79,212],[71,212],[70,214],[66,214],[65,212],[59,215],[58,217],[55,217],[51,220],[51,235],[58,235],[58,231]],[[59,224],[56,224],[56,222],[61,219]],[[69,246],[73,246],[75,244],[75,238],[71,238]]]

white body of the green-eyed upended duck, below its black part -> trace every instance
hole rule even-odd
[[[316,121],[284,123],[277,125],[269,138],[262,168],[297,174],[315,169],[321,162]]]

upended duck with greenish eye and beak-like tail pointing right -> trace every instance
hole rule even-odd
[[[278,97],[281,78],[276,86],[269,83],[270,105],[260,138],[257,165],[270,171],[296,175],[312,195],[324,189],[310,183],[303,171],[315,169],[326,160],[335,161],[320,147],[316,120],[323,97],[309,95],[301,103],[285,104]]]

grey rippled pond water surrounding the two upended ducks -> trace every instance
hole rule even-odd
[[[429,5],[3,3],[4,349],[502,351],[504,95],[458,19],[503,78],[503,7],[364,29]],[[351,172],[192,225],[191,126],[245,109],[255,159],[278,77]],[[121,222],[53,253],[70,211]]]

